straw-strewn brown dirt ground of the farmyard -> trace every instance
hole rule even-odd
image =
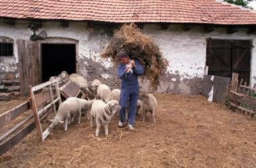
[[[109,136],[101,128],[96,138],[84,117],[41,146],[34,130],[0,157],[0,167],[256,167],[256,120],[200,95],[155,96],[157,124],[138,116],[130,131],[116,116]]]

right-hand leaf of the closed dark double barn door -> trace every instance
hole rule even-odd
[[[250,81],[251,40],[232,40],[232,70],[242,78]]]

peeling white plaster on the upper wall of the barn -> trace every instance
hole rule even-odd
[[[28,23],[16,22],[15,26],[8,26],[0,22],[0,36],[7,36],[14,39],[14,58],[3,59],[0,62],[1,72],[11,72],[17,70],[14,66],[18,62],[16,40],[29,40],[32,32],[27,28]],[[80,58],[92,58],[100,62],[105,68],[111,67],[111,62],[99,58],[100,46],[107,44],[107,36],[93,36],[94,28],[88,28],[86,22],[69,22],[68,28],[62,28],[59,22],[43,22],[43,28],[48,37],[52,38],[71,38],[78,40],[78,55]],[[100,32],[101,30],[97,30]],[[225,28],[215,28],[215,31],[205,33],[203,27],[195,26],[189,31],[182,30],[181,26],[173,25],[168,30],[161,30],[159,25],[147,24],[143,28],[145,34],[153,37],[159,44],[163,55],[170,61],[168,72],[174,75],[180,75],[180,79],[172,78],[171,81],[184,79],[193,79],[194,77],[203,77],[206,59],[206,39],[243,39],[253,40],[253,46],[256,46],[255,34],[247,34],[246,28],[241,28],[234,34],[226,34]],[[91,45],[89,45],[91,44]],[[93,45],[92,45],[93,44]],[[91,48],[91,46],[94,46]],[[95,51],[97,50],[97,51]],[[86,64],[86,62],[84,62]],[[11,66],[10,66],[11,65]],[[6,68],[9,67],[9,68]],[[79,66],[78,66],[79,67]],[[80,73],[86,76],[86,70],[78,69]],[[256,48],[252,49],[251,56],[251,82],[256,83]],[[183,83],[186,85],[186,83]],[[165,85],[163,83],[163,85]],[[170,83],[168,85],[171,85]]]

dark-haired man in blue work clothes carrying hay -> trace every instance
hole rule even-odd
[[[138,75],[143,75],[144,68],[138,60],[130,60],[127,52],[118,53],[120,65],[118,66],[118,76],[122,79],[120,93],[120,121],[119,127],[124,126],[125,111],[129,107],[128,128],[134,130],[135,113],[138,101]]]

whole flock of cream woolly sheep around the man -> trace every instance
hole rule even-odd
[[[98,79],[95,79],[90,86],[87,85],[87,81],[78,74],[68,75],[63,71],[59,77],[61,79],[70,79],[80,87],[80,90],[84,93],[81,98],[69,97],[66,101],[63,101],[59,105],[59,110],[51,125],[47,128],[47,131],[51,132],[55,126],[63,124],[65,130],[68,130],[68,124],[74,121],[74,118],[78,116],[78,124],[80,124],[82,112],[86,114],[88,119],[91,119],[91,127],[96,128],[96,136],[99,136],[99,130],[101,126],[105,128],[105,135],[108,134],[108,124],[111,118],[121,109],[119,105],[120,101],[120,89],[111,89],[101,83]],[[51,77],[50,80],[56,77]],[[141,100],[140,100],[141,99]],[[140,99],[137,102],[136,114],[142,112],[143,121],[147,112],[151,112],[153,122],[155,122],[155,110],[157,107],[157,100],[151,93],[143,93],[140,95]],[[91,118],[89,117],[91,116]],[[128,118],[128,110],[126,110],[126,119]]]

